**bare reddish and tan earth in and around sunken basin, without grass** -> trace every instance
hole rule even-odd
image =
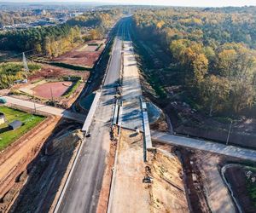
[[[73,70],[68,70],[65,68],[57,66],[42,65],[42,69],[38,72],[33,73],[28,78],[28,83],[26,84],[16,84],[9,90],[9,92],[20,90],[29,95],[14,95],[15,97],[25,100],[25,101],[36,101],[38,103],[46,104],[49,99],[51,99],[50,86],[52,84],[52,93],[55,98],[55,107],[69,108],[73,105],[73,102],[77,100],[78,96],[84,89],[84,83],[80,83],[79,87],[73,92],[73,94],[68,97],[63,97],[63,93],[67,91],[67,86],[71,82],[55,82],[49,83],[49,81],[58,81],[63,78],[63,76],[79,76],[85,81],[89,78],[90,72],[76,72]],[[35,96],[37,97],[33,100],[33,91],[35,89]],[[8,91],[3,91],[2,93],[7,93]]]

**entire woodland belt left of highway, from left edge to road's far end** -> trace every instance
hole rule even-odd
[[[26,30],[0,33],[0,50],[30,51],[56,57],[73,49],[84,40],[102,38],[107,29],[119,18],[119,10],[87,12],[66,24],[42,26]],[[84,35],[81,28],[90,27]],[[83,29],[82,29],[83,30]],[[83,34],[83,35],[82,35]]]

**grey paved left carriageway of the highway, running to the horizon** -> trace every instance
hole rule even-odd
[[[102,89],[95,119],[90,126],[90,138],[86,138],[75,165],[67,190],[58,212],[96,212],[102,178],[106,168],[106,157],[110,145],[110,120],[113,114],[116,83],[119,80],[122,34],[125,21],[119,22],[117,37],[113,43],[112,58]]]

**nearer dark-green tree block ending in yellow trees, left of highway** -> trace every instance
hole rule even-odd
[[[0,49],[28,51],[49,57],[61,55],[80,39],[79,27],[43,26],[0,34]]]

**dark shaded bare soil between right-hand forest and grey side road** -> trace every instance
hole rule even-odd
[[[174,131],[212,141],[225,142],[230,129],[230,122],[220,122],[201,112],[195,112],[181,101],[172,101],[165,111],[172,120]],[[221,119],[221,118],[220,118]],[[256,148],[256,119],[241,117],[233,122],[230,131],[230,144]]]

